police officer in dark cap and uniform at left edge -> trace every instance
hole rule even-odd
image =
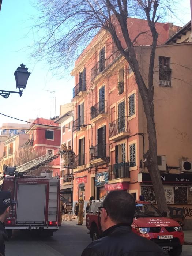
[[[4,227],[4,221],[10,214],[11,204],[15,203],[11,200],[10,191],[0,191],[0,255],[5,255],[5,243],[8,241],[8,234]]]

